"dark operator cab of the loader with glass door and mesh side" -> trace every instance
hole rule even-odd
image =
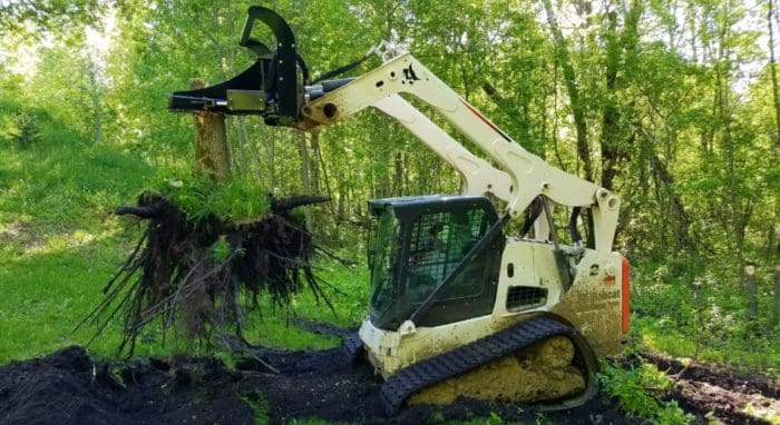
[[[498,221],[489,199],[387,198],[370,200],[369,209],[377,218],[369,241],[376,327],[396,330],[412,316],[416,326],[438,326],[491,313],[504,237],[489,231]],[[475,249],[485,238],[484,249]]]

